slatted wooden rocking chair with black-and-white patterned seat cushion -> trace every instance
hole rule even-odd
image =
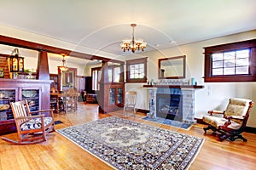
[[[18,141],[2,138],[11,144],[38,144],[46,141],[46,134],[55,131],[53,110],[30,111],[26,100],[10,103],[15,117]],[[49,112],[44,116],[43,112]]]

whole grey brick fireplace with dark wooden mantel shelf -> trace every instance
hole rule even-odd
[[[203,86],[160,84],[144,85],[143,88],[148,88],[148,117],[162,116],[174,120],[182,119],[181,122],[196,123],[195,89],[204,88]],[[162,106],[163,103],[166,103],[166,107]]]

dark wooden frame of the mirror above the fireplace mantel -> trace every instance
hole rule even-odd
[[[182,59],[182,68],[180,71],[182,71],[182,75],[168,75],[167,77],[164,76],[163,71],[161,70],[161,63],[166,60],[170,60],[169,62],[174,62],[174,59]],[[186,77],[186,55],[177,56],[177,57],[170,57],[165,59],[158,59],[158,78],[159,79],[181,79]],[[174,68],[176,69],[176,68]]]

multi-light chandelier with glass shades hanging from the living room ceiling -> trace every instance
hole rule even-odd
[[[132,53],[135,53],[136,50],[142,50],[144,51],[144,48],[147,47],[147,42],[143,42],[142,38],[134,38],[134,27],[137,26],[136,24],[131,24],[132,27],[132,39],[125,38],[123,39],[122,43],[120,44],[121,48],[124,50],[124,52],[127,50],[129,51],[131,49]]]

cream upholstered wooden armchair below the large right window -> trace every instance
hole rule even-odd
[[[230,99],[229,105],[225,111],[208,111],[210,116],[203,116],[203,121],[208,124],[208,127],[204,127],[205,133],[207,130],[219,132],[219,139],[230,139],[234,141],[236,139],[242,139],[247,141],[241,133],[244,131],[249,113],[253,107],[253,101],[251,99]],[[213,116],[221,115],[221,116]]]

